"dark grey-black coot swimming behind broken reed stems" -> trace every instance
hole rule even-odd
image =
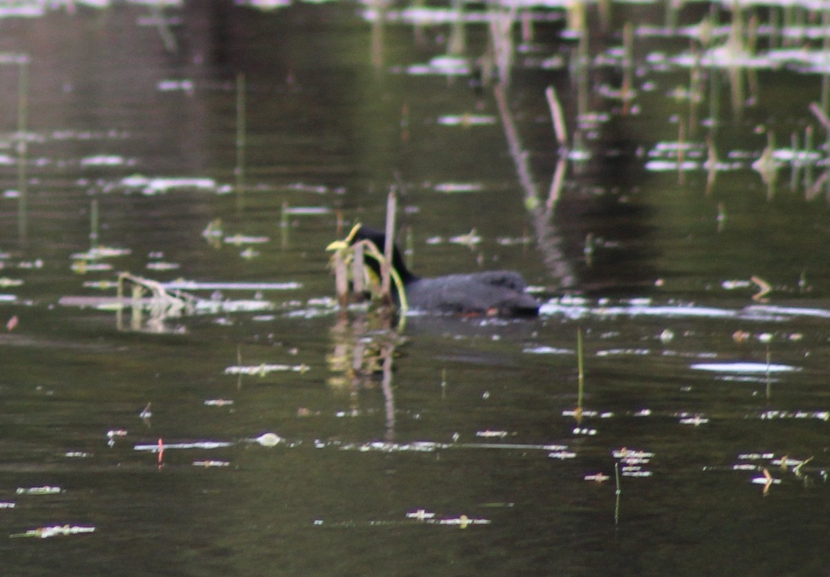
[[[354,245],[360,240],[368,240],[383,254],[386,241],[383,232],[357,225],[346,241]],[[379,276],[377,259],[367,258],[366,264]],[[395,245],[392,265],[403,283],[408,307],[415,310],[501,317],[535,316],[539,313],[538,301],[525,292],[525,279],[514,270],[419,277],[407,268]]]

